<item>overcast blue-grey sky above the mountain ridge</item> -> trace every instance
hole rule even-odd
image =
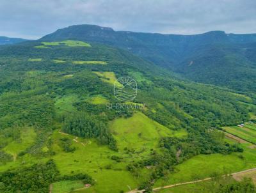
[[[0,36],[35,40],[75,24],[181,35],[256,33],[256,1],[0,0]]]

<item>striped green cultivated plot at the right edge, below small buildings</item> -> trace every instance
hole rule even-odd
[[[244,127],[223,127],[224,130],[230,134],[236,135],[250,143],[256,144],[256,124],[246,123]]]

